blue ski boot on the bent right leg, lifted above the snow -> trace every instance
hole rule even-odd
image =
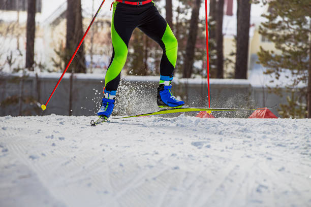
[[[181,108],[184,106],[182,100],[177,100],[171,93],[171,81],[173,77],[161,76],[160,85],[158,87],[157,103],[160,108]]]

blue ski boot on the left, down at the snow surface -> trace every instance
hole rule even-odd
[[[113,111],[116,91],[108,91],[104,89],[104,97],[102,99],[102,106],[97,112],[100,118],[108,119]]]

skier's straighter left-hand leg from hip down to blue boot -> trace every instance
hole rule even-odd
[[[128,55],[128,45],[135,29],[135,21],[127,21],[131,13],[122,9],[124,5],[113,3],[111,20],[112,57],[105,76],[104,98],[98,116],[108,118],[114,108],[116,90],[120,82],[120,73]]]

